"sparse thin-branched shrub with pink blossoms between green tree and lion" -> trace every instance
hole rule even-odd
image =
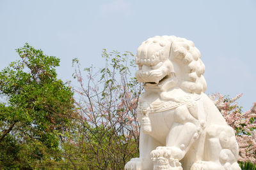
[[[103,50],[102,57],[106,66],[99,71],[84,69],[86,79],[78,60],[73,60],[79,115],[75,145],[86,155],[81,167],[124,169],[125,163],[139,153],[137,105],[142,86],[129,70],[135,67],[132,53]]]

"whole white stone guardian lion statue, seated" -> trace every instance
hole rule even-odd
[[[238,145],[204,94],[205,66],[192,41],[155,36],[141,43],[136,78],[145,92],[138,106],[140,158],[125,170],[239,170]]]

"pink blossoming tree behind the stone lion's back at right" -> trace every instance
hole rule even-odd
[[[256,103],[243,112],[236,103],[242,94],[229,98],[221,94],[209,96],[236,134],[239,145],[239,161],[256,164]]]

